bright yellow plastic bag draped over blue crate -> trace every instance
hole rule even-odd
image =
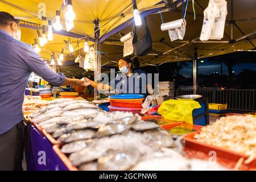
[[[193,125],[192,111],[200,107],[200,104],[196,101],[168,100],[161,104],[158,114],[172,121],[184,121]]]

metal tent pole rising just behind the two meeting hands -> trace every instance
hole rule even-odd
[[[94,81],[101,81],[101,44],[99,42],[100,39],[100,20],[94,20],[94,51],[95,51],[95,61],[94,61]],[[100,93],[98,93],[97,89],[94,88],[94,100],[100,100]]]

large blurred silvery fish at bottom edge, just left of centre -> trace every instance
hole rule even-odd
[[[129,150],[108,151],[98,158],[98,170],[100,171],[125,171],[135,166],[141,158],[141,154],[135,147]]]

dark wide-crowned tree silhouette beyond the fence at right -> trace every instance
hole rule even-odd
[[[229,80],[233,77],[233,68],[237,64],[256,63],[256,52],[234,52],[225,55],[209,57],[213,63],[224,63],[228,67]]]

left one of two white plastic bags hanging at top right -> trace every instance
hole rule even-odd
[[[209,40],[212,32],[214,19],[220,18],[218,4],[214,0],[210,0],[207,9],[204,10],[204,22],[200,35],[200,40]]]

